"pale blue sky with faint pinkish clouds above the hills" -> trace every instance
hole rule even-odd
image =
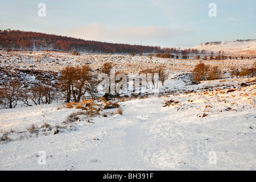
[[[1,30],[176,48],[256,39],[255,0],[0,0],[0,5]]]

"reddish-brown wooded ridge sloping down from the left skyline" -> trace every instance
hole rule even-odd
[[[82,40],[67,36],[27,32],[19,30],[0,30],[0,49],[23,51],[78,51],[92,53],[152,53],[164,52],[158,46],[139,46]]]

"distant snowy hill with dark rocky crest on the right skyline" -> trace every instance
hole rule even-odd
[[[194,49],[256,55],[256,39],[201,43]]]

